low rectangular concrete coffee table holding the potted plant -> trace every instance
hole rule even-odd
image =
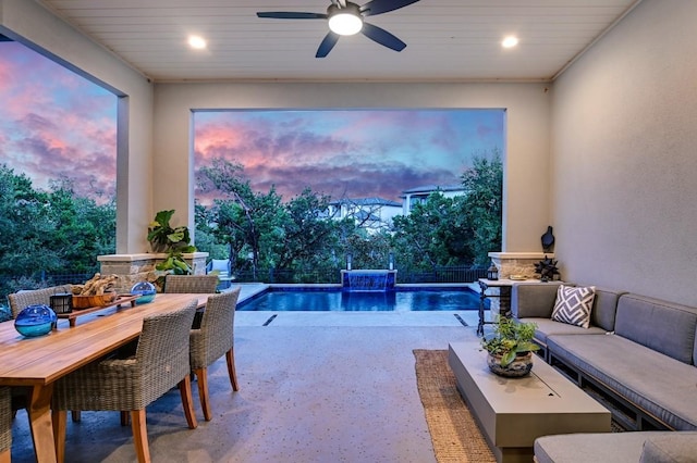
[[[540,358],[529,376],[504,378],[478,342],[452,342],[448,363],[499,463],[531,462],[540,436],[610,431],[610,412]]]

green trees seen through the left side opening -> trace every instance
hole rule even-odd
[[[73,182],[59,178],[38,191],[0,165],[0,293],[40,286],[44,271],[95,272],[97,255],[115,251],[115,203],[76,196]]]

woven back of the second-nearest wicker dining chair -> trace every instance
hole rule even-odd
[[[232,349],[240,290],[237,287],[208,298],[198,334],[200,342],[192,345],[192,368],[208,366]]]

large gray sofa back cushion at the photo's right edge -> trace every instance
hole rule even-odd
[[[694,364],[697,309],[634,293],[617,302],[614,331],[655,351]]]

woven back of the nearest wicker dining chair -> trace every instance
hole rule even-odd
[[[184,308],[143,318],[135,353],[145,403],[150,403],[189,374],[188,338],[198,301]]]

